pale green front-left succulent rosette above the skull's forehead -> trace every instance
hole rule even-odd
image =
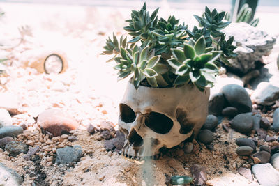
[[[166,65],[160,63],[160,55],[154,56],[155,50],[149,47],[138,47],[135,45],[133,50],[121,47],[121,57],[114,60],[117,65],[114,69],[119,70],[119,79],[128,77],[133,73],[132,82],[135,88],[139,88],[140,82],[145,78],[150,86],[166,86],[162,74],[168,71]]]

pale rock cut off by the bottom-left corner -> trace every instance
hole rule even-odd
[[[0,185],[1,186],[20,186],[22,185],[22,177],[13,169],[6,167],[0,163]]]

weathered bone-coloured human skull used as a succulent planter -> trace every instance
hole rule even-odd
[[[206,121],[209,88],[199,91],[193,84],[179,88],[135,90],[130,82],[119,104],[119,130],[125,134],[123,155],[132,159],[158,155],[195,137]]]

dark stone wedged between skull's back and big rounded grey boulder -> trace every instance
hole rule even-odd
[[[219,116],[225,107],[225,98],[223,93],[216,93],[209,98],[209,114]]]

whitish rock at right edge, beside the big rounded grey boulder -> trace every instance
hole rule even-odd
[[[269,82],[261,82],[252,93],[253,102],[262,105],[271,105],[279,98],[279,87]]]

